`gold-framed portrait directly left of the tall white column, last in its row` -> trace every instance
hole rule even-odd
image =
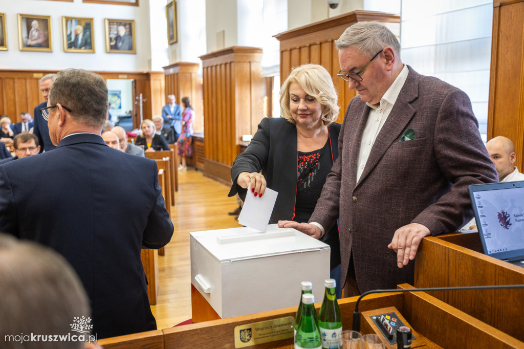
[[[106,18],[105,49],[108,53],[136,53],[135,20]]]

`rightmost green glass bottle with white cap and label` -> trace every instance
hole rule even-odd
[[[336,301],[334,279],[324,281],[326,292],[319,313],[319,328],[322,337],[322,348],[336,349],[342,347],[342,315]]]

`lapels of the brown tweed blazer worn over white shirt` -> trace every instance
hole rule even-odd
[[[411,67],[408,66],[408,68],[409,74],[406,79],[406,82],[400,90],[400,93],[397,97],[397,101],[391,109],[391,112],[389,113],[389,116],[386,122],[384,123],[384,126],[380,129],[380,132],[378,133],[377,139],[375,140],[375,144],[373,145],[371,153],[369,154],[369,158],[367,159],[366,166],[364,167],[364,171],[362,172],[362,176],[358,180],[358,183],[356,183],[357,185],[362,183],[362,181],[367,177],[367,175],[373,170],[380,158],[384,156],[386,150],[400,136],[402,131],[406,128],[406,125],[409,123],[409,121],[415,114],[415,110],[411,106],[411,102],[417,99],[419,95],[418,91],[420,75]],[[359,133],[357,139],[362,141],[362,133],[364,131],[367,117],[369,115],[369,107],[364,108],[364,111],[362,111],[361,108],[361,112],[361,121],[358,127]],[[353,163],[357,163],[358,149],[360,149],[360,143],[356,147],[356,154],[354,151],[354,156],[356,156],[356,158],[353,159]]]

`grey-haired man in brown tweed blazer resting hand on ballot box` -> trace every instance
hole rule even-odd
[[[339,77],[358,93],[339,158],[310,224],[279,225],[319,237],[340,217],[342,283],[353,296],[412,284],[409,261],[422,238],[470,220],[468,186],[496,182],[497,173],[467,95],[402,64],[391,31],[361,22],[335,43]]]

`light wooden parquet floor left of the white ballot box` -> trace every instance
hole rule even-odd
[[[236,199],[228,198],[230,188],[188,168],[179,172],[176,205],[171,207],[174,233],[166,255],[158,256],[159,291],[151,311],[158,329],[172,327],[191,318],[191,266],[189,233],[239,227],[234,216]]]

